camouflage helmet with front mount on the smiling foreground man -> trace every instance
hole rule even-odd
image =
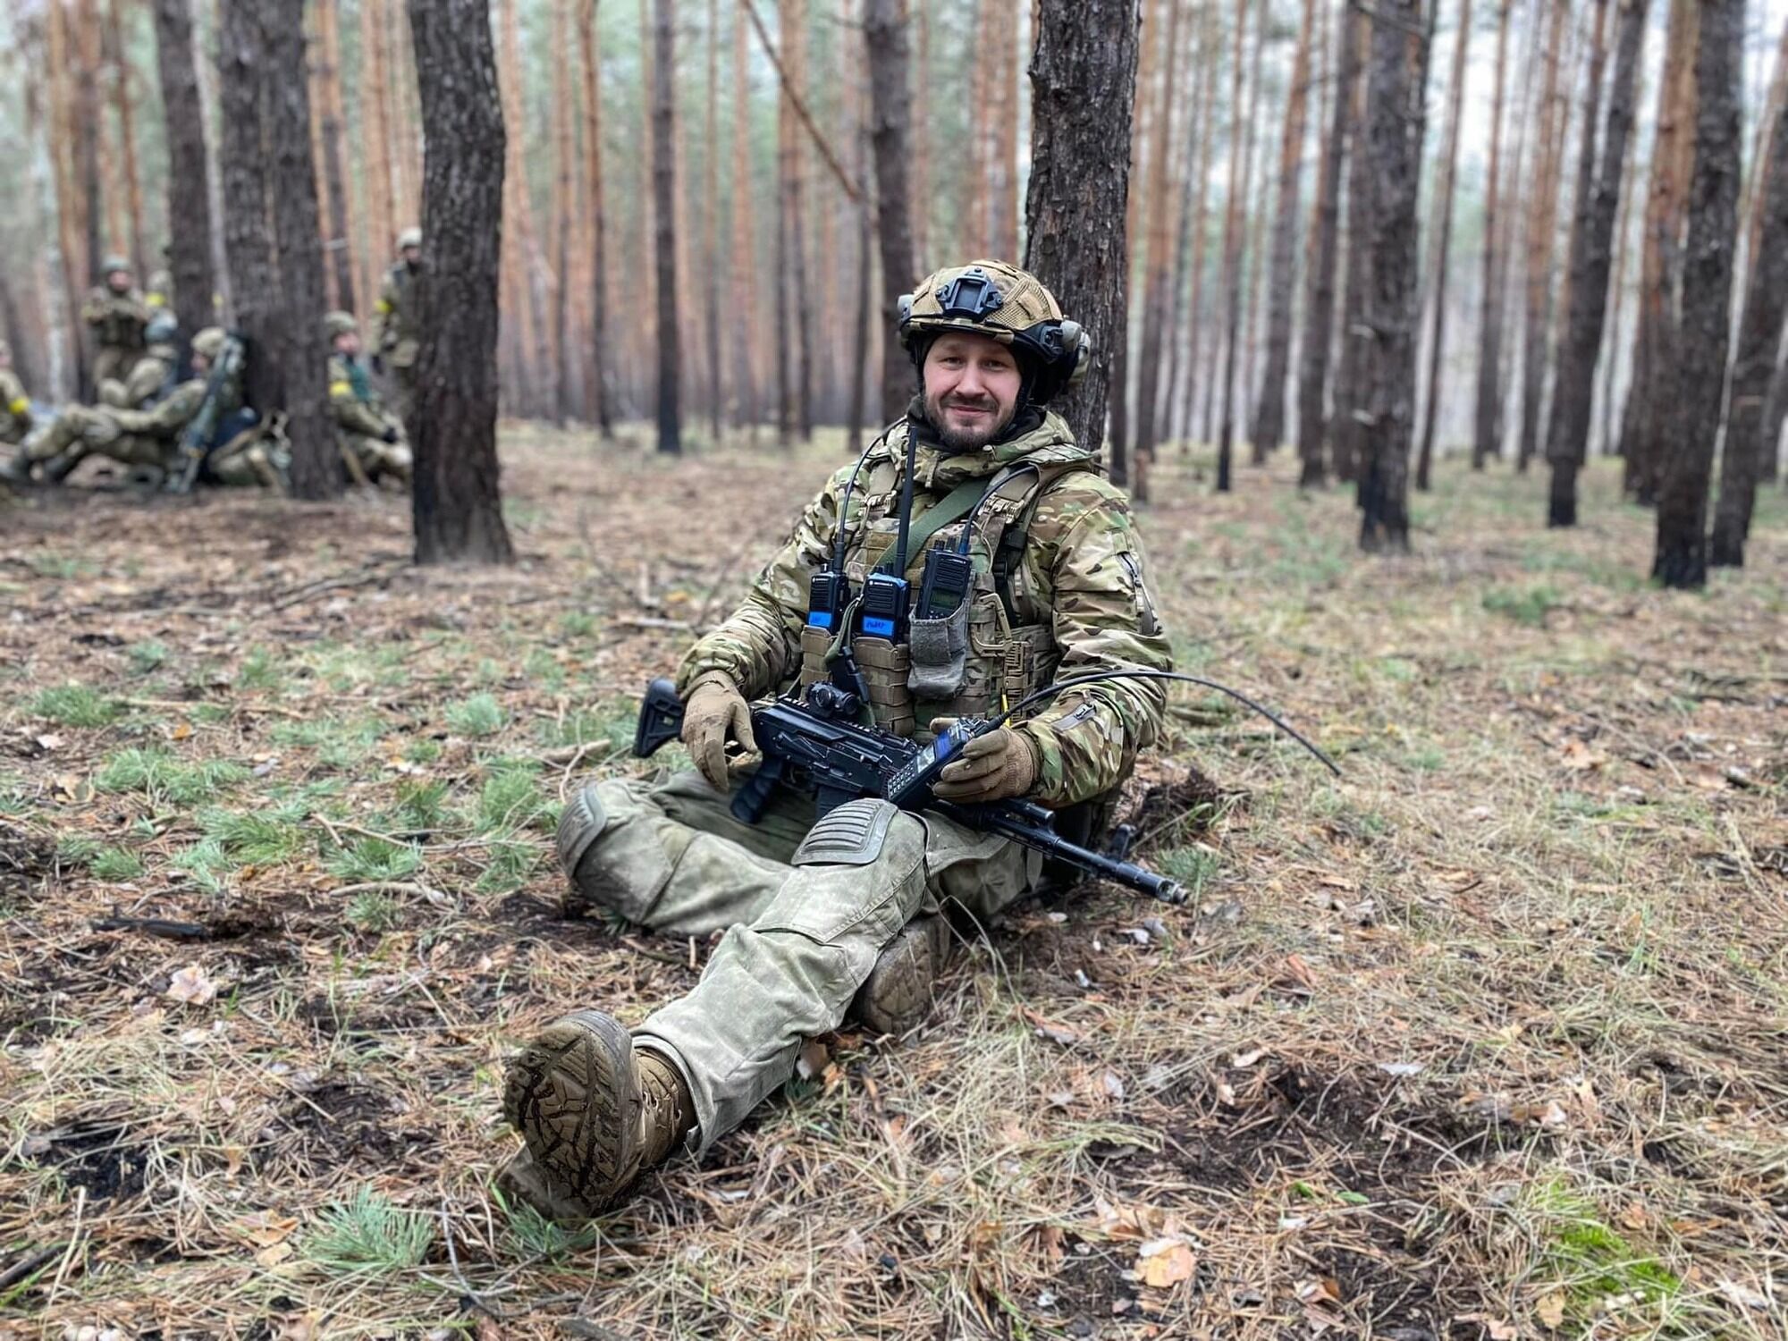
[[[1042,281],[1005,261],[944,266],[901,295],[899,342],[915,365],[949,331],[1010,345],[1025,370],[1025,401],[1037,406],[1080,381],[1092,358],[1092,338],[1062,316]]]

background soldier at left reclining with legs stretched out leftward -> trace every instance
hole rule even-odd
[[[222,327],[207,325],[193,336],[193,375],[150,409],[116,406],[70,406],[43,433],[25,442],[21,476],[39,467],[52,485],[61,483],[88,456],[98,452],[129,467],[166,474],[179,458],[181,434],[204,409],[213,361],[224,352]],[[216,388],[218,422],[229,418],[241,401],[234,379]]]

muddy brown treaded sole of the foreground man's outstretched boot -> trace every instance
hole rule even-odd
[[[640,1103],[633,1037],[595,1010],[542,1030],[502,1085],[502,1116],[552,1191],[586,1214],[615,1200],[638,1173]]]

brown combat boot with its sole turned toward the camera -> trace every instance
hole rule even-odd
[[[554,1219],[588,1218],[696,1126],[688,1087],[611,1016],[549,1025],[510,1066],[502,1116],[527,1150],[501,1182]]]

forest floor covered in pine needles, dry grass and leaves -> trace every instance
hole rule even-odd
[[[1573,531],[1446,463],[1375,560],[1169,452],[1180,667],[1345,778],[1177,692],[1184,908],[1010,908],[563,1230],[492,1191],[506,1058],[710,946],[561,921],[554,817],[840,452],[504,458],[501,572],[397,495],[0,511],[0,1336],[1788,1334],[1779,490],[1679,594],[1606,461]]]

